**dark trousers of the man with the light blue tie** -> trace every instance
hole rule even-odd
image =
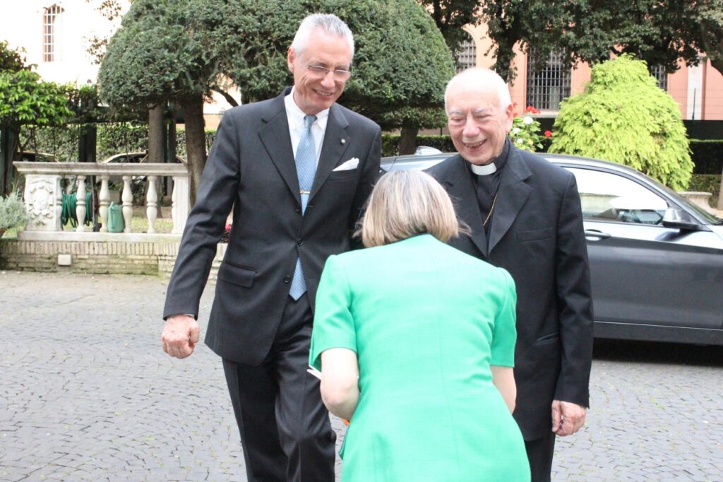
[[[336,434],[307,373],[312,322],[308,295],[288,297],[261,365],[223,360],[249,482],[334,481]]]

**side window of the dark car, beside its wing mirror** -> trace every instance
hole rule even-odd
[[[611,172],[567,169],[575,174],[584,219],[662,224],[668,203],[644,185]]]

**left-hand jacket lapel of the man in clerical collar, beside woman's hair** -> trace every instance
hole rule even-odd
[[[482,214],[479,213],[479,203],[474,190],[472,177],[466,162],[462,156],[454,156],[450,159],[450,170],[447,179],[447,192],[455,204],[457,216],[469,225],[471,229],[472,242],[477,249],[487,258],[487,236],[482,226]]]

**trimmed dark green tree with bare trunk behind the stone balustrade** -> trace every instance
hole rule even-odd
[[[100,97],[114,109],[180,106],[195,199],[206,161],[203,104],[222,59],[210,37],[223,9],[205,0],[135,0],[100,64]]]

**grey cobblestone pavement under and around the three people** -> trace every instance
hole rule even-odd
[[[165,289],[0,272],[0,481],[245,481],[220,361],[161,350]],[[558,439],[553,480],[723,481],[722,382],[718,347],[596,343],[588,425]]]

